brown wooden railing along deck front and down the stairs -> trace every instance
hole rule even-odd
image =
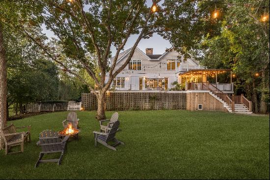
[[[247,107],[249,112],[252,112],[252,103],[248,99],[246,99],[243,94],[241,95],[232,95],[229,97],[227,94],[219,90],[215,85],[204,82],[204,83],[187,83],[186,90],[210,90],[213,92],[217,97],[222,99],[224,102],[227,103],[228,106],[231,107],[232,111],[235,111],[235,103],[243,104]]]

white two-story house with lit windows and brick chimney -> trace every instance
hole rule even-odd
[[[119,54],[115,69],[125,62],[130,51]],[[178,56],[176,51],[153,55],[153,48],[146,48],[145,52],[136,48],[130,63],[116,76],[111,87],[116,90],[169,90],[173,88],[171,83],[181,82],[179,73],[205,68],[195,60],[183,61]]]

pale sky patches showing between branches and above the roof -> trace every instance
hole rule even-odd
[[[162,4],[163,0],[159,3]],[[146,1],[146,4],[148,7],[151,7],[152,6],[152,0],[147,0]],[[54,36],[54,33],[50,30],[46,30],[46,27],[45,25],[42,26],[43,28],[43,32],[48,36],[48,37],[55,37]],[[130,38],[128,39],[125,47],[124,47],[124,50],[127,50],[129,48],[131,48],[135,41],[136,41],[136,38],[138,37],[138,35],[132,35],[130,36]],[[168,40],[165,40],[163,39],[160,35],[158,35],[157,33],[153,34],[153,36],[149,39],[142,39],[138,46],[137,46],[140,50],[142,50],[143,52],[145,52],[145,49],[146,48],[153,48],[153,54],[155,55],[162,55],[166,48],[170,48],[171,47],[171,44]],[[111,46],[111,55],[114,56],[116,53],[116,49],[115,47]]]

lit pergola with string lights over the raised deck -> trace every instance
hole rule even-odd
[[[217,83],[217,75],[225,72],[231,72],[231,83],[232,83],[232,71],[231,69],[192,69],[187,72],[179,74],[179,83],[184,82],[207,82],[207,77],[215,77]]]

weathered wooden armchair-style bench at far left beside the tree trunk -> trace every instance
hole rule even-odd
[[[17,132],[17,129],[27,128],[26,132]],[[27,140],[31,141],[30,136],[31,126],[15,127],[14,124],[10,124],[2,129],[0,133],[5,142],[5,154],[15,153],[15,152],[24,152],[24,142]],[[13,146],[21,146],[21,150],[15,152],[8,152],[8,150]]]

